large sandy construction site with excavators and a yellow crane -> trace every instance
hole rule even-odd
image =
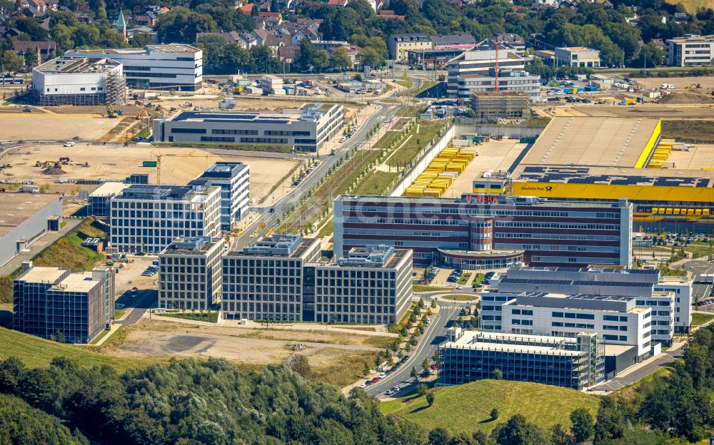
[[[0,116],[0,123],[3,121]],[[78,144],[31,145],[9,150],[0,158],[1,163],[10,163],[11,168],[1,170],[0,179],[9,182],[32,180],[36,184],[53,183],[60,177],[69,179],[124,179],[131,173],[149,173],[149,181],[157,183],[156,168],[141,167],[144,160],[156,160],[161,155],[161,183],[186,184],[218,160],[235,160],[251,165],[251,198],[263,198],[275,183],[288,174],[297,164],[296,160],[257,158],[249,155],[212,155],[193,148],[156,148],[150,145]],[[178,156],[176,156],[178,155]],[[69,165],[62,165],[64,173],[46,175],[43,168],[35,167],[39,161],[56,161],[69,156]],[[84,167],[89,163],[89,167]]]

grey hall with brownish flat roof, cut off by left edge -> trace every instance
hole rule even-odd
[[[49,230],[49,220],[62,216],[61,195],[0,193],[0,266]]]

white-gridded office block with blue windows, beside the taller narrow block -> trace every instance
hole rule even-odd
[[[221,188],[131,185],[110,200],[111,247],[158,254],[179,237],[221,234]]]

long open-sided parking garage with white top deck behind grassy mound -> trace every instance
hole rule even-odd
[[[605,380],[605,347],[592,332],[575,337],[448,329],[438,347],[438,385],[493,379],[588,389]]]

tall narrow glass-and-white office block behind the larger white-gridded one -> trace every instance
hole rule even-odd
[[[188,185],[221,188],[221,230],[231,230],[248,214],[251,166],[239,162],[217,162]]]

